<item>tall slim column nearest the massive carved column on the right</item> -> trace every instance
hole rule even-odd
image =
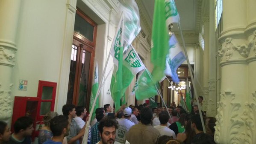
[[[209,96],[207,116],[216,115],[216,59],[215,59],[215,8],[214,1],[209,1]]]

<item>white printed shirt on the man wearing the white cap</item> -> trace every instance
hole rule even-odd
[[[134,123],[126,118],[118,118],[118,129],[116,130],[115,141],[125,144],[125,138],[129,129]]]

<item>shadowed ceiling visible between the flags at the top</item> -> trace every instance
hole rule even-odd
[[[148,23],[152,27],[155,0],[136,0],[136,2],[140,7],[140,11],[142,11],[141,13],[147,15]],[[175,0],[175,4],[179,13],[183,34],[190,33],[198,35],[202,16],[207,14],[209,16],[209,13],[203,12],[205,10],[207,11],[207,9],[202,9],[202,5],[205,6],[206,2],[204,0]],[[177,24],[174,24],[172,31],[179,31]]]

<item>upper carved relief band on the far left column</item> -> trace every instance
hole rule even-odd
[[[15,65],[15,51],[0,46],[0,65],[13,67]]]

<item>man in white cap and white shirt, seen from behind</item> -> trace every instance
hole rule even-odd
[[[132,109],[127,107],[124,109],[124,117],[118,118],[118,129],[116,130],[116,138],[115,141],[118,141],[121,144],[125,144],[125,138],[127,132],[129,131],[130,127],[134,125],[132,121],[130,121],[132,115]]]

